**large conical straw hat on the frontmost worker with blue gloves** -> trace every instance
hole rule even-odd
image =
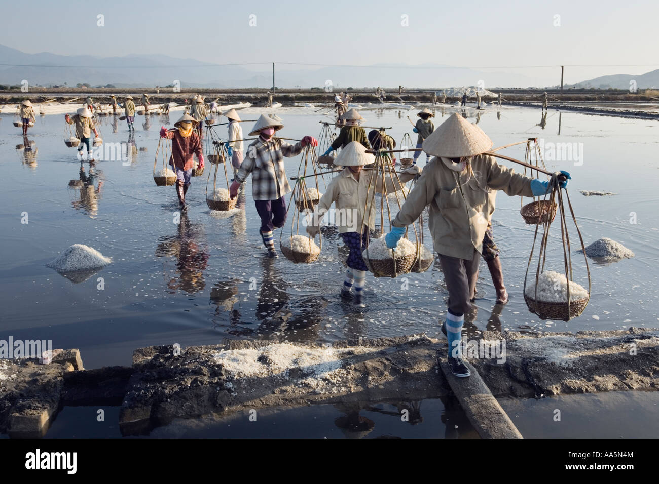
[[[460,158],[488,151],[492,148],[492,140],[476,124],[453,113],[430,133],[421,147],[428,155]]]

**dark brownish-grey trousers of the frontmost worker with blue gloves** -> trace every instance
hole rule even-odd
[[[476,291],[480,254],[474,249],[471,261],[438,254],[446,288],[449,290],[448,307],[451,313],[461,316],[471,309],[471,298]]]

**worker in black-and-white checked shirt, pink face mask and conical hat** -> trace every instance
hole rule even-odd
[[[288,177],[284,169],[284,157],[291,158],[301,153],[307,145],[318,146],[318,141],[312,136],[304,136],[296,144],[290,144],[274,134],[283,128],[283,124],[266,115],[261,115],[254,124],[249,136],[258,138],[247,148],[247,157],[241,164],[233,183],[229,187],[231,198],[238,195],[238,189],[247,177],[252,174],[252,198],[256,211],[261,217],[261,227],[258,230],[268,257],[276,258],[275,242],[272,231],[280,229],[286,223],[285,196],[291,192]]]

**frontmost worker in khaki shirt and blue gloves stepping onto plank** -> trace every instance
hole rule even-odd
[[[508,196],[541,196],[549,182],[529,178],[498,165],[486,154],[492,140],[475,124],[455,113],[423,142],[434,158],[426,167],[386,235],[387,247],[394,248],[429,205],[428,225],[438,252],[449,292],[448,311],[442,333],[449,343],[448,363],[453,375],[469,377],[459,346],[465,313],[471,308],[476,290],[478,263],[488,226],[488,189],[503,190]],[[476,175],[478,173],[478,175]],[[569,173],[559,173],[565,188]]]

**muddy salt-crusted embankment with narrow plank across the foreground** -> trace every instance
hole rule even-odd
[[[227,340],[140,348],[130,367],[84,370],[78,350],[55,350],[49,364],[0,360],[0,433],[44,435],[63,406],[121,406],[121,432],[136,435],[210,414],[454,394],[481,437],[521,438],[496,397],[659,389],[656,329],[486,331],[467,344],[466,379],[450,374],[446,352],[422,334],[331,346]]]

